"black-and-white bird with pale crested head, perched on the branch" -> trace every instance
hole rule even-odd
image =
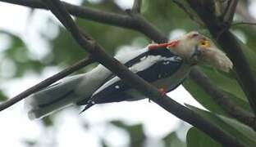
[[[165,43],[149,44],[139,50],[115,56],[140,78],[153,84],[162,94],[181,85],[196,65],[208,65],[229,72],[233,64],[214,42],[192,31]],[[68,105],[93,105],[147,98],[117,75],[98,65],[87,73],[64,78],[25,99],[30,119],[43,118]]]

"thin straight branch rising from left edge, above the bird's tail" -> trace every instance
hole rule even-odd
[[[71,65],[70,67],[63,69],[61,72],[54,74],[52,77],[47,78],[43,80],[42,82],[39,82],[38,84],[34,85],[33,87],[30,87],[29,89],[21,92],[17,96],[12,97],[10,100],[7,100],[3,102],[0,105],[0,111],[7,109],[11,105],[15,105],[17,102],[25,99],[25,97],[30,96],[36,91],[40,91],[45,87],[48,87],[49,85],[53,84],[53,82],[57,82],[58,80],[66,77],[67,75],[74,73],[75,71],[82,69],[83,67],[90,65],[94,63],[94,60],[92,58],[85,58],[84,60],[80,60],[76,62],[74,65]]]

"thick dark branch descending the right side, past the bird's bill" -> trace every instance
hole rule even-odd
[[[226,30],[226,26],[222,25],[222,22],[217,19],[213,11],[209,11],[213,7],[211,1],[201,3],[199,0],[187,0],[187,2],[190,3],[194,11],[197,11],[210,33],[212,33],[214,38],[217,38],[218,44],[226,51],[227,56],[231,58],[240,79],[240,85],[243,91],[245,91],[254,114],[256,114],[256,81],[248,61],[245,59],[240,43],[229,30]]]

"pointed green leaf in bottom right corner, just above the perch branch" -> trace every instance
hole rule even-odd
[[[198,109],[192,105],[187,106],[195,113],[208,120],[208,122],[212,122],[214,125],[222,129],[222,131],[225,131],[227,134],[235,137],[236,140],[239,140],[245,145],[248,145],[248,147],[256,146],[256,132],[253,131],[250,127],[237,122],[235,119],[213,114],[203,109]]]

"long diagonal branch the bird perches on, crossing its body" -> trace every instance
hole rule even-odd
[[[213,139],[221,142],[222,145],[245,146],[238,142],[238,140],[235,140],[234,137],[214,126],[212,123],[205,121],[190,109],[185,108],[167,96],[162,96],[155,87],[150,85],[148,82],[145,82],[142,78],[139,78],[135,73],[132,73],[117,60],[107,56],[107,53],[103,51],[103,47],[98,45],[97,42],[85,38],[80,29],[78,29],[75,23],[71,20],[71,16],[68,15],[66,9],[62,7],[61,2],[58,0],[44,0],[44,2],[48,4],[51,11],[53,11],[53,14],[61,20],[62,24],[67,27],[73,38],[75,38],[76,42],[78,42],[81,47],[86,51],[89,51],[91,55],[94,56],[95,60],[98,60],[98,62],[105,65],[108,69],[111,69],[113,73],[116,73],[117,76],[126,83],[141,91],[145,96],[149,96],[151,100],[156,102],[158,105],[161,105],[162,108],[167,109],[167,111],[172,114],[175,114],[178,118],[181,118],[186,122],[190,122],[195,127],[206,132],[209,136],[212,136]],[[62,18],[65,18],[65,20],[62,20]]]

